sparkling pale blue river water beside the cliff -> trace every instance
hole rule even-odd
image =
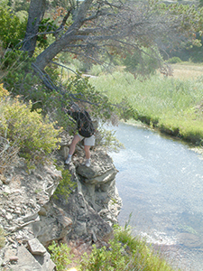
[[[179,141],[119,124],[125,145],[110,153],[123,201],[119,224],[152,243],[174,268],[203,270],[203,160]]]

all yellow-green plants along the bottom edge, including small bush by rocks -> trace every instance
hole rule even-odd
[[[68,266],[75,266],[78,271],[174,270],[145,241],[133,237],[129,227],[121,229],[115,226],[114,238],[109,239],[106,247],[97,248],[93,245],[91,252],[79,257],[78,261],[72,261],[67,245],[53,242],[49,249],[57,270],[69,270]]]

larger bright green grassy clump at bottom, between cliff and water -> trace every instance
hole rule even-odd
[[[79,271],[172,271],[174,270],[161,255],[139,238],[131,235],[129,229],[115,229],[109,248],[97,249],[80,260]]]

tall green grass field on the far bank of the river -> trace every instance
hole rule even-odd
[[[137,111],[137,119],[148,125],[193,143],[203,140],[202,77],[182,80],[154,75],[142,80],[115,72],[90,82],[113,103],[126,98]]]

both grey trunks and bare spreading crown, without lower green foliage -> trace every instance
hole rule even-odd
[[[60,2],[60,1],[58,1]],[[64,1],[63,1],[64,2]],[[64,3],[63,3],[64,4]],[[31,0],[23,50],[32,56],[38,27],[45,12],[45,0]],[[200,10],[189,5],[164,5],[160,1],[67,1],[67,13],[55,31],[56,40],[36,58],[34,67],[43,71],[60,51],[88,60],[102,61],[102,55],[142,51],[192,41],[202,24]],[[71,23],[67,25],[67,20]],[[158,56],[157,56],[158,58]]]

